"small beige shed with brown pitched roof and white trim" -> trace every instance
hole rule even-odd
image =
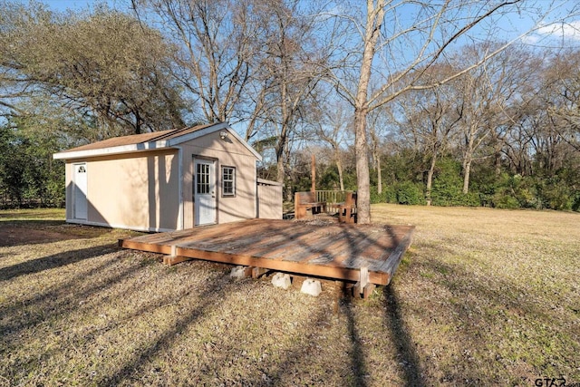
[[[102,140],[53,158],[66,162],[70,223],[172,231],[281,218],[282,188],[270,184],[260,200],[262,158],[225,122]]]

